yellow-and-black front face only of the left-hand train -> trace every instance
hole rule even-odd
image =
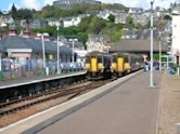
[[[86,55],[87,78],[101,79],[104,72],[103,55],[87,54]]]

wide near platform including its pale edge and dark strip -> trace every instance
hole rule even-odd
[[[160,76],[154,73],[157,84],[155,89],[150,89],[147,72],[129,75],[1,129],[0,133],[155,134]],[[51,118],[46,119],[48,116]]]

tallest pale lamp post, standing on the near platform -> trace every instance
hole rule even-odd
[[[153,3],[151,0],[151,66],[150,66],[150,88],[154,88],[153,83]]]

